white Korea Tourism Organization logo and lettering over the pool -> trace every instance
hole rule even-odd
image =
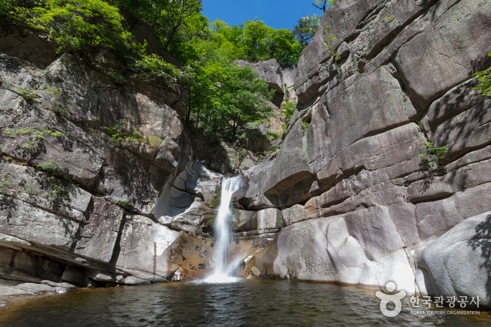
[[[392,294],[395,291],[395,283],[389,281],[386,283],[386,291],[375,292],[375,296],[380,299],[380,312],[384,316],[393,318],[400,314],[402,310],[402,299],[406,296],[405,291]],[[394,309],[388,309],[387,305],[393,303]],[[412,296],[410,297],[411,314],[480,314],[480,311],[471,311],[466,309],[467,305],[479,307],[480,299],[478,296]],[[450,309],[461,308],[464,310],[444,310],[443,305],[447,305]],[[433,307],[433,309],[431,309]],[[436,307],[436,310],[434,308]],[[441,308],[441,309],[439,309]]]

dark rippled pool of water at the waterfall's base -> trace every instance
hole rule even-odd
[[[375,291],[322,283],[166,283],[8,300],[0,326],[491,326],[491,315],[386,318]],[[3,299],[5,300],[5,299]]]

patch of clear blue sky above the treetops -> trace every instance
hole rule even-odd
[[[254,20],[257,16],[270,27],[292,29],[303,14],[322,15],[310,0],[203,0],[202,3],[202,13],[210,22],[219,19],[229,26]]]

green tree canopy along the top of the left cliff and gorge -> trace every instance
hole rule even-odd
[[[124,21],[123,13],[131,22]],[[152,53],[146,41],[136,41],[131,34],[136,20],[155,30],[163,50],[181,61],[183,69]],[[58,53],[96,65],[112,53],[119,66],[100,68],[118,83],[138,74],[164,87],[188,88],[185,121],[230,142],[273,115],[268,104],[273,91],[237,60],[296,65],[318,20],[317,15],[303,17],[292,32],[269,27],[259,18],[233,26],[209,22],[202,15],[202,0],[0,0],[2,26],[44,29],[59,45]]]

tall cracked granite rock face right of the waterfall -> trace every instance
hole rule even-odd
[[[491,102],[471,75],[491,65],[490,17],[484,0],[339,0],[322,15],[280,149],[239,199],[241,217],[279,209],[282,227],[237,274],[485,298],[485,236],[471,234],[491,210]],[[435,167],[426,142],[448,148]]]

